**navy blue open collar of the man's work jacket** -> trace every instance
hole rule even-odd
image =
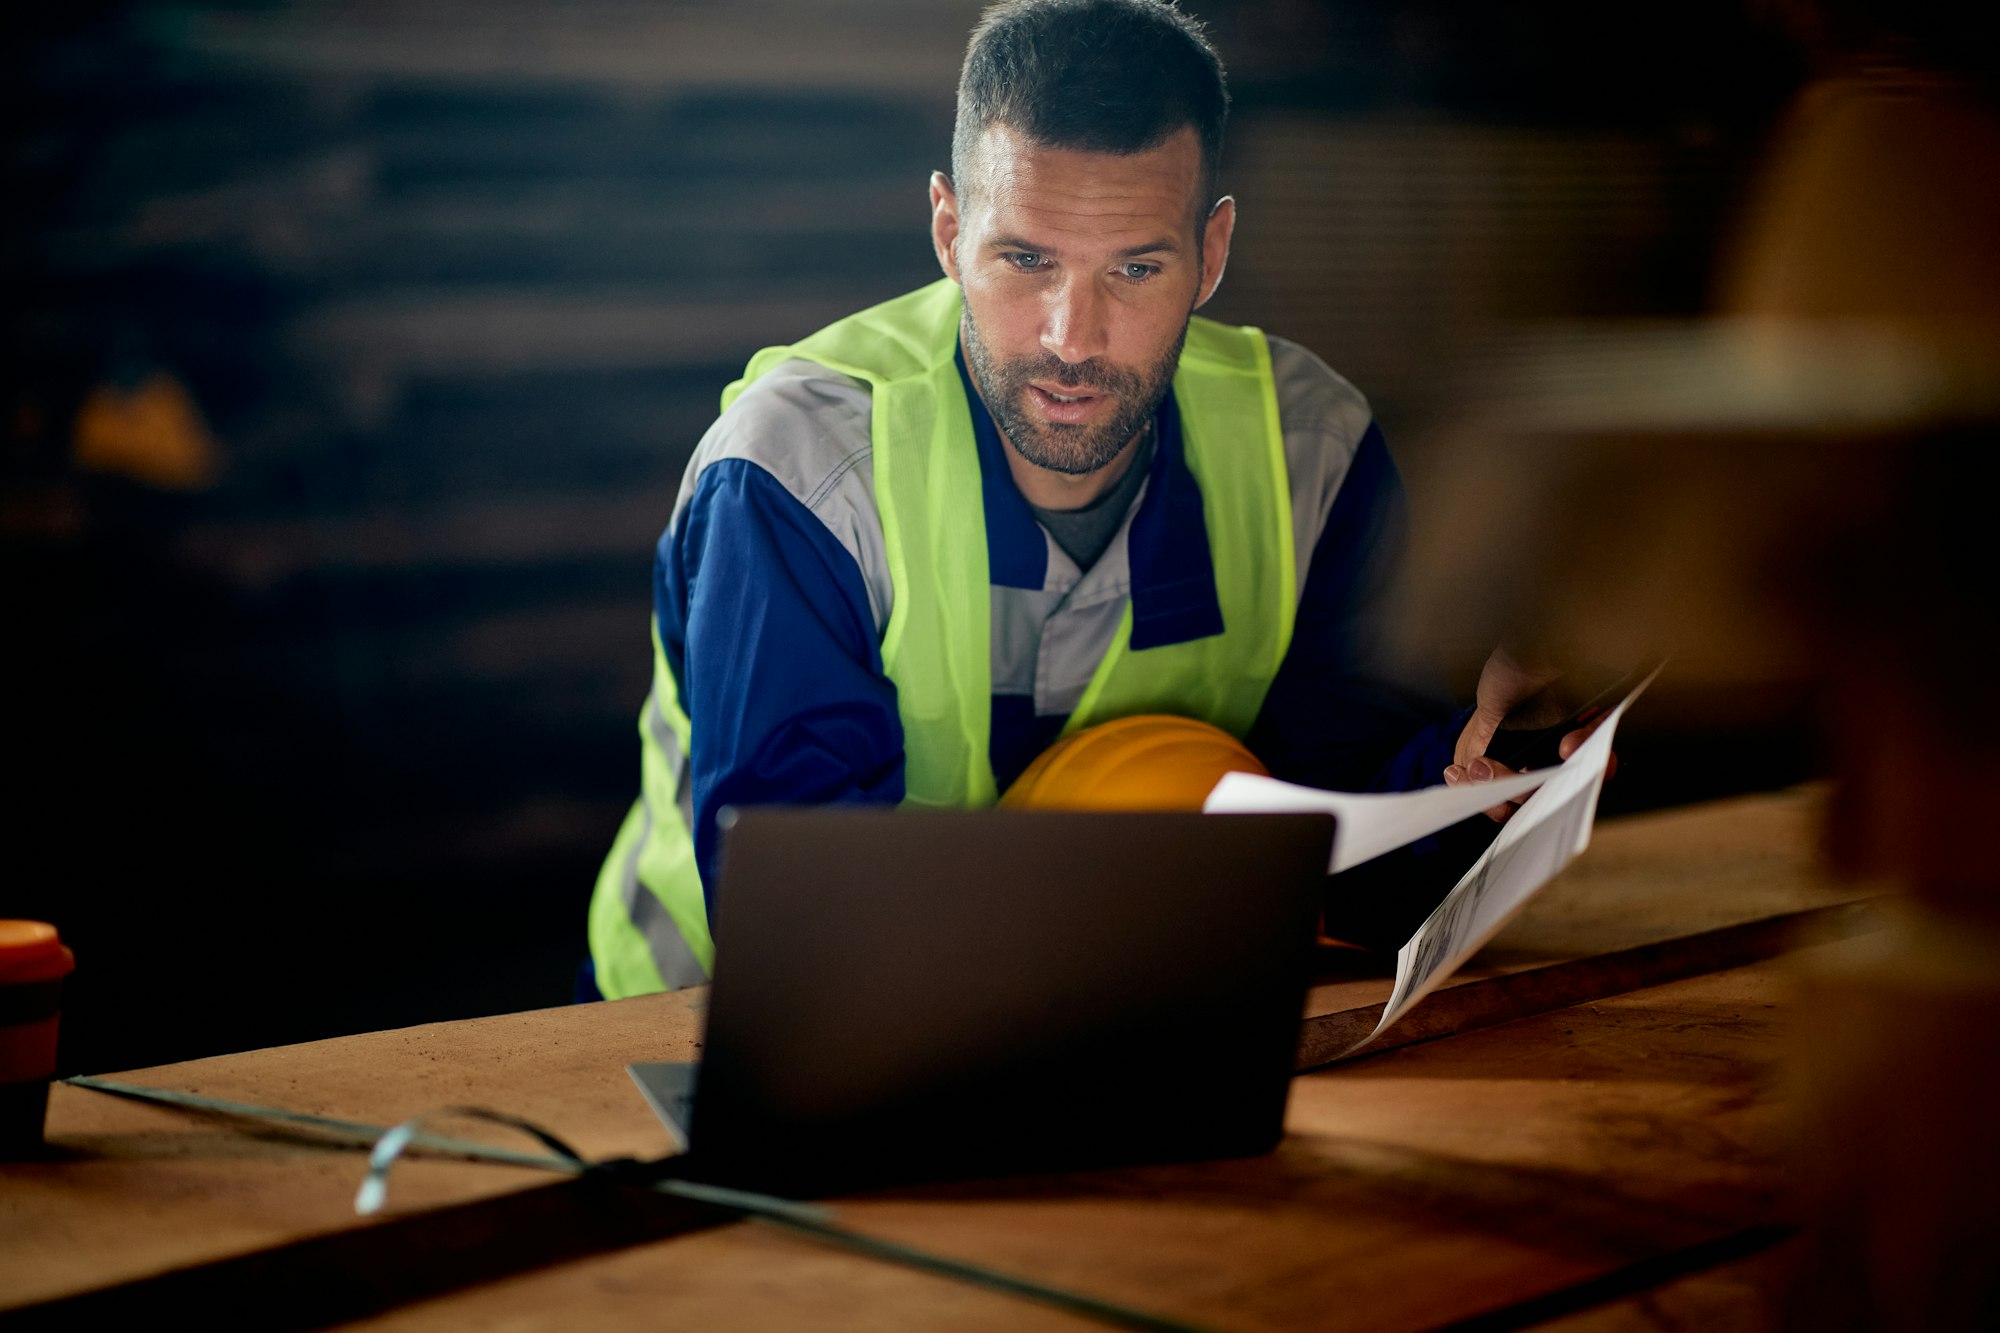
[[[972,386],[962,348],[956,360],[972,408],[972,438],[980,450],[988,578],[1004,588],[1042,588],[1048,580],[1050,538],[1014,486],[1000,430]],[[1160,400],[1154,434],[1158,442],[1146,492],[1126,520],[1134,648],[1160,648],[1222,632],[1222,602],[1216,596],[1202,488],[1188,470],[1172,392]]]

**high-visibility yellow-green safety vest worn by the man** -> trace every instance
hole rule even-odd
[[[894,608],[882,669],[896,683],[904,739],[904,801],[918,807],[992,805],[990,576],[986,510],[972,410],[954,360],[960,292],[938,280],[852,314],[792,346],[764,348],[722,394],[724,410],[786,360],[812,360],[872,390],[874,498],[882,518]],[[1222,632],[1132,648],[1132,608],[1096,666],[1064,735],[1136,713],[1196,717],[1242,737],[1292,640],[1298,602],[1292,494],[1278,426],[1270,348],[1256,328],[1194,318],[1174,374],[1184,454],[1202,492]],[[692,727],[654,626],[654,697],[692,755]],[[640,727],[644,795],[598,875],[590,953],[608,997],[664,989],[646,929],[678,931],[706,973],[714,941],[694,839],[676,801],[678,773]],[[620,893],[626,867],[652,897],[648,923]],[[658,911],[656,911],[658,909]],[[660,919],[664,915],[664,921]]]

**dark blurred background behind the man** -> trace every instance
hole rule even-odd
[[[1236,94],[1210,312],[1416,484],[1496,344],[1704,308],[1806,76],[1752,0],[1186,8]],[[754,348],[934,276],[976,10],[10,12],[0,915],[76,947],[68,1069],[568,999],[680,470]],[[1608,807],[1812,769],[1716,727],[1634,715]]]

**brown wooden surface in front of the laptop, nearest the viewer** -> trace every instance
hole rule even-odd
[[[1784,963],[1304,1075],[1248,1161],[870,1195],[854,1227],[1216,1329],[1428,1329],[1782,1215]],[[1084,1327],[762,1225],[358,1327]]]

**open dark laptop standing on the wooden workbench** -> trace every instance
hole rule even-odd
[[[1248,1157],[1284,1101],[1330,815],[724,815],[674,1175],[824,1195]]]

